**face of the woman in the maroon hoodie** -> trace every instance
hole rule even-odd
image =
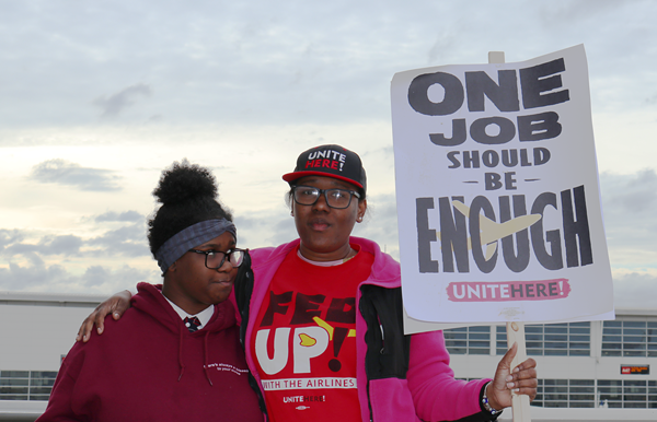
[[[233,235],[224,232],[194,249],[226,253],[234,247]],[[228,258],[218,269],[207,268],[205,259],[203,254],[188,251],[171,265],[164,279],[164,295],[191,315],[226,301],[238,274]]]

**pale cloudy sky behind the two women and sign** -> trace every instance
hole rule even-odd
[[[280,176],[323,143],[368,172],[354,234],[399,257],[394,73],[584,44],[615,306],[654,308],[655,16],[649,0],[0,0],[0,291],[160,282],[151,192],[185,157],[217,176],[241,247],[291,241]]]

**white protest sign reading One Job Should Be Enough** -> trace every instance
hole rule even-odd
[[[584,47],[401,72],[391,93],[408,316],[609,317]]]

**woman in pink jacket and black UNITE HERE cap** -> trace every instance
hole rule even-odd
[[[253,286],[237,284],[246,362],[273,421],[487,421],[511,405],[511,389],[533,398],[535,362],[495,379],[461,382],[449,368],[440,331],[403,335],[399,263],[371,241],[351,237],[367,211],[360,157],[338,145],[303,152],[289,199],[299,239],[252,250]],[[117,318],[118,294],[80,329]],[[245,328],[245,329],[244,329]]]

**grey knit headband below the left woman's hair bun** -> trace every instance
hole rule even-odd
[[[155,259],[162,273],[166,272],[169,267],[189,249],[221,236],[226,232],[231,233],[235,237],[235,242],[238,241],[235,225],[226,219],[201,221],[180,231],[164,242],[155,253]]]

